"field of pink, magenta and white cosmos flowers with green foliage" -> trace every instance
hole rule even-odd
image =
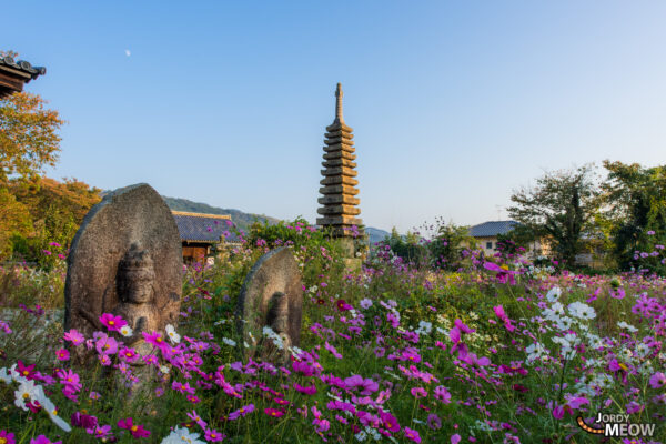
[[[183,271],[179,325],[134,332],[103,314],[93,337],[62,329],[64,262],[1,270],[0,443],[659,443],[666,440],[666,280],[577,275],[470,252],[456,271],[379,248],[359,271],[294,225]],[[265,251],[303,270],[300,347],[248,359],[234,323]],[[50,253],[64,254],[53,246]],[[270,329],[263,339],[284,346]],[[71,351],[94,359],[72,365]],[[141,360],[154,376],[137,382]],[[577,425],[598,413],[654,424],[619,441]]]

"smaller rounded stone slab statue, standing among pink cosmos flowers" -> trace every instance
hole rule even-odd
[[[236,311],[249,355],[285,362],[289,349],[301,343],[302,312],[301,271],[291,250],[283,246],[261,256],[245,278]]]

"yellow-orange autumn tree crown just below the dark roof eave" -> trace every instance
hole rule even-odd
[[[16,176],[34,180],[44,167],[56,165],[64,121],[44,104],[27,92],[0,99],[0,186]]]

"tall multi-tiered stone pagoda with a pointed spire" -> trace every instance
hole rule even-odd
[[[356,176],[356,154],[354,154],[354,135],[352,129],[344,124],[342,118],[342,87],[337,83],[335,90],[335,120],[326,127],[324,139],[324,161],[322,170],[324,179],[320,182],[323,186],[320,188],[320,193],[323,194],[319,199],[322,208],[317,213],[322,218],[316,220],[319,225],[329,228],[332,234],[336,238],[352,236],[355,233],[363,235],[362,232],[352,231],[352,225],[360,226],[361,219],[356,218],[361,213],[357,208],[360,200],[355,198],[359,190],[355,188],[359,181]]]

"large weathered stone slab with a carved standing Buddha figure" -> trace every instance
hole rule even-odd
[[[72,242],[64,287],[64,329],[87,339],[107,329],[99,317],[123,317],[133,335],[125,344],[147,354],[141,332],[176,325],[182,289],[182,250],[171,211],[148,184],[104,196],[85,215]],[[90,355],[72,350],[75,362]]]

